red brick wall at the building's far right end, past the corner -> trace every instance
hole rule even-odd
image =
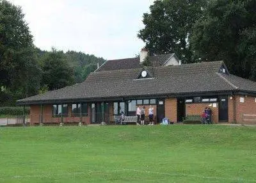
[[[244,97],[244,102],[240,102],[240,97]],[[256,124],[256,116],[246,116],[243,120],[243,115],[256,115],[256,102],[255,97],[244,95],[236,95],[236,122],[237,123],[253,123]]]

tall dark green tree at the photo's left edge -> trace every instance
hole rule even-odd
[[[6,88],[0,92],[9,91],[15,102],[37,92],[38,78],[33,36],[24,14],[19,6],[0,1],[0,86]]]

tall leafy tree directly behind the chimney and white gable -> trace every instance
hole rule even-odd
[[[150,54],[175,52],[182,62],[189,63],[193,23],[202,15],[206,3],[205,0],[157,0],[150,6],[150,13],[144,13],[145,28],[139,31],[138,37],[146,43]]]

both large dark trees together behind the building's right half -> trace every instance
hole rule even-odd
[[[223,60],[256,81],[255,0],[157,0],[138,37],[150,54],[175,52],[182,63]]]

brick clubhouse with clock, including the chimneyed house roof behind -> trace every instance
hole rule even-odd
[[[152,67],[142,61],[148,59]],[[154,121],[182,122],[212,110],[214,123],[256,123],[256,83],[228,72],[223,61],[180,64],[175,54],[109,60],[83,83],[17,100],[30,106],[30,122],[111,123],[136,105],[154,107]]]

